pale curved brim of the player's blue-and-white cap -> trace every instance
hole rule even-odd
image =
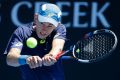
[[[38,15],[38,20],[39,20],[39,22],[49,22],[49,23],[53,24],[55,27],[58,26],[58,22],[55,21],[52,18],[48,18],[48,17],[44,17],[44,16],[41,16],[41,15]]]

